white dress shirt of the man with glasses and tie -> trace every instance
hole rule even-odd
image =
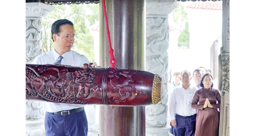
[[[44,54],[38,55],[31,64],[53,64],[60,55],[55,51],[45,52]],[[74,51],[69,51],[61,55],[61,65],[69,65],[74,67],[83,67],[84,63],[89,64],[88,58]],[[42,110],[47,112],[57,112],[62,110],[69,110],[73,108],[84,107],[81,104],[69,104],[69,103],[55,103],[55,102],[43,102]]]

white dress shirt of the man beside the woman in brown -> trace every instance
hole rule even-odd
[[[172,91],[169,103],[171,120],[175,119],[175,113],[180,116],[192,116],[197,113],[196,109],[191,108],[196,90],[196,87],[190,84],[187,90],[180,85]]]

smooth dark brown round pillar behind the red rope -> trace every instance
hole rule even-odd
[[[145,0],[106,0],[116,68],[144,70]],[[100,1],[100,66],[110,67]],[[100,136],[145,136],[145,107],[100,106]]]

